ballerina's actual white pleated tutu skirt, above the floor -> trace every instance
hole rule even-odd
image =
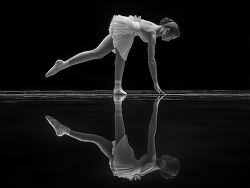
[[[114,48],[119,51],[124,61],[127,60],[129,50],[136,36],[131,20],[138,22],[141,20],[141,17],[114,15],[109,25],[109,33],[112,34]],[[112,52],[115,53],[115,49]]]

